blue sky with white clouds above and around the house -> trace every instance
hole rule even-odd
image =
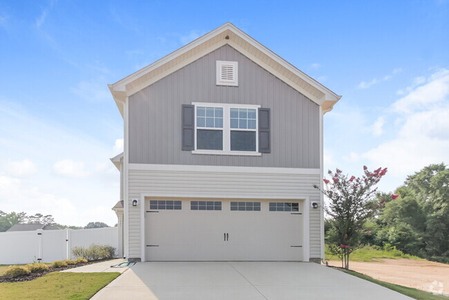
[[[117,82],[230,21],[331,88],[325,168],[449,162],[449,1],[0,1],[0,210],[116,221]]]

